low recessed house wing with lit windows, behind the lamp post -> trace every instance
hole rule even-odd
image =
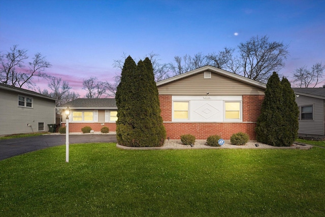
[[[115,99],[76,99],[57,107],[62,113],[62,126],[66,124],[64,110],[69,106],[69,132],[82,132],[81,128],[91,127],[100,132],[106,126],[112,132],[116,131],[117,107]]]

